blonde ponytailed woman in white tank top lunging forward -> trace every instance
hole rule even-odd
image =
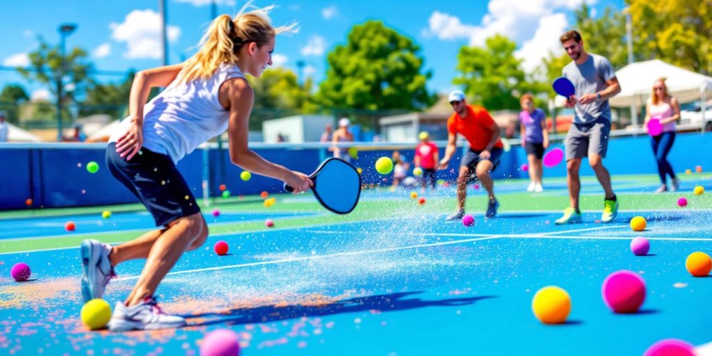
[[[186,251],[199,248],[208,226],[175,164],[201,143],[229,133],[230,158],[240,167],[280,179],[304,192],[308,176],[263,159],[247,146],[253,90],[246,74],[258,78],[272,64],[273,6],[215,19],[201,49],[182,64],[137,73],[129,98],[130,115],[111,136],[106,164],[113,176],[146,206],[158,229],[118,246],[85,240],[81,244],[84,300],[102,298],[117,264],[133,258],[146,263],[132,292],[118,302],[109,330],[178,328],[184,318],[157,307],[156,289]],[[167,87],[145,104],[153,87]]]

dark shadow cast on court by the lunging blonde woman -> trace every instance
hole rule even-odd
[[[468,298],[450,298],[441,300],[422,300],[420,298],[405,299],[410,295],[422,292],[391,293],[369,295],[367,297],[338,300],[325,305],[263,305],[255,308],[236,308],[198,315],[183,315],[185,318],[216,318],[199,323],[189,323],[188,326],[213,324],[241,325],[253,323],[270,323],[279,320],[335,315],[343,313],[359,313],[368,310],[378,310],[386,313],[397,310],[411,310],[427,307],[460,307],[471,305],[479,300],[496,298],[496,295],[478,295]]]

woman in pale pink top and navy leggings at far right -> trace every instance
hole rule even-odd
[[[663,183],[656,193],[675,192],[680,188],[680,179],[675,175],[675,172],[667,160],[667,155],[675,142],[675,122],[680,118],[680,105],[677,99],[667,93],[665,79],[660,78],[653,83],[653,93],[646,104],[645,124],[648,127],[650,120],[660,120],[663,130],[660,135],[651,138],[653,153],[658,164],[658,174],[660,181]],[[668,189],[666,176],[669,175],[672,179],[672,187]]]

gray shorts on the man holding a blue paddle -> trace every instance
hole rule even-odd
[[[566,160],[584,158],[595,153],[606,157],[611,122],[606,117],[599,117],[589,124],[571,124],[566,135]]]

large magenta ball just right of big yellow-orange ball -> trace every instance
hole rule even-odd
[[[633,271],[617,271],[603,281],[601,294],[615,313],[636,313],[645,301],[645,281]]]

